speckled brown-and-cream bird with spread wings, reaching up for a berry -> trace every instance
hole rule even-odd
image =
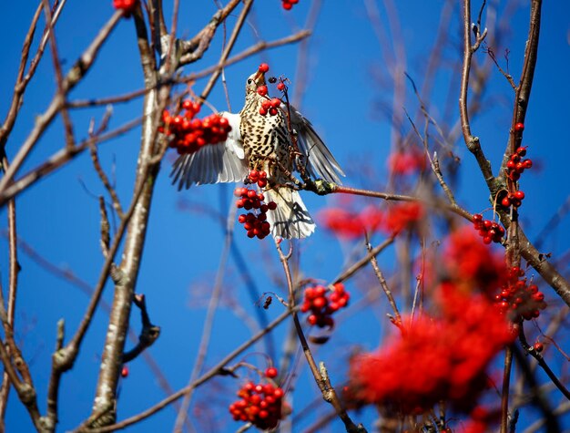
[[[219,113],[231,127],[227,139],[180,155],[170,176],[180,191],[194,184],[241,182],[247,180],[249,170],[263,170],[268,180],[263,191],[265,201],[277,205],[267,213],[271,234],[274,238],[306,238],[315,231],[316,224],[299,191],[292,187],[290,173],[299,171],[302,164],[312,179],[336,184],[341,184],[345,174],[299,110],[280,102],[270,114],[263,112],[262,104],[268,97],[258,89],[266,86],[268,69],[260,67],[247,78],[245,105],[239,113]],[[293,150],[291,133],[296,137],[300,155]]]

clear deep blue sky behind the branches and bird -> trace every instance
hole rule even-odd
[[[199,5],[195,5],[197,2],[180,3],[178,35],[182,37],[194,35],[216,10],[216,5],[210,1],[199,2]],[[274,40],[302,28],[311,3],[309,0],[300,0],[300,5],[286,13],[281,10],[278,0],[257,2],[233,53],[237,54],[252,45],[258,37]],[[390,5],[391,2],[379,2],[378,8],[382,28],[388,35],[387,48],[392,50],[394,39],[390,32],[396,23],[393,20],[389,22],[384,4]],[[401,40],[405,46],[405,62],[402,57],[400,60],[402,65],[405,65],[403,69],[420,87],[444,5],[443,1],[397,2]],[[5,26],[0,27],[0,36],[5,41],[2,49],[3,67],[0,70],[0,82],[4,83],[3,98],[0,98],[1,113],[5,113],[9,106],[22,41],[35,7],[33,2],[13,2],[6,8],[8,14]],[[473,9],[476,7],[477,4],[473,5]],[[504,6],[501,5],[498,10],[499,16],[502,16]],[[170,12],[167,10],[167,16]],[[112,13],[110,1],[89,2],[89,5],[86,2],[69,2],[66,5],[56,27],[59,53],[64,60],[65,70],[73,65],[76,57]],[[543,5],[538,65],[524,130],[524,144],[529,146],[529,157],[534,160],[535,167],[528,175],[525,173],[521,183],[521,188],[526,193],[522,221],[524,230],[531,239],[541,232],[545,223],[568,196],[570,170],[567,169],[566,160],[566,128],[570,124],[570,110],[567,108],[570,86],[565,78],[568,76],[570,64],[568,16],[568,2],[545,2]],[[519,76],[522,65],[527,20],[528,7],[521,5],[505,23],[504,42],[496,48],[500,61],[503,61],[504,48],[508,47],[510,50],[509,66],[515,79]],[[235,16],[231,16],[229,25],[234,22]],[[222,43],[221,34],[220,29],[204,58],[197,64],[185,67],[185,73],[201,70],[217,61]],[[134,36],[132,20],[121,22],[107,41],[87,78],[71,93],[71,99],[107,97],[142,88],[142,74],[137,62]],[[461,25],[457,19],[457,8],[453,10],[448,36],[446,46],[443,47],[443,58],[447,65],[451,65],[461,54]],[[490,35],[491,41],[493,37],[494,35]],[[489,61],[481,51],[475,57],[478,62]],[[245,78],[255,71],[260,61],[267,61],[275,75],[290,77],[294,88],[298,59],[299,46],[283,46],[228,67],[226,75],[232,109],[237,111],[241,107]],[[389,79],[378,79],[379,76],[388,77],[386,71],[389,65],[386,65],[385,59],[382,58],[382,49],[368,20],[364,2],[323,2],[314,35],[310,38],[305,67],[308,83],[302,101],[298,102],[337,160],[346,168],[349,176],[345,183],[356,187],[382,189],[388,175],[384,161],[392,147],[392,131],[388,120],[380,116],[376,108],[380,103],[392,104],[393,86]],[[199,92],[204,85],[205,81],[198,81],[194,90]],[[25,104],[8,141],[7,152],[10,158],[14,157],[15,150],[32,128],[36,116],[46,109],[54,91],[52,62],[46,54],[26,93]],[[413,113],[417,109],[417,100],[409,85],[405,91],[402,108]],[[436,76],[430,98],[430,112],[442,124],[453,124],[457,120],[458,92],[456,74],[450,72],[449,68]],[[448,100],[451,101],[449,110],[445,108]],[[482,140],[483,149],[495,168],[500,162],[508,138],[512,100],[512,89],[504,77],[492,68],[489,87],[483,97],[482,111],[473,119],[473,133]],[[140,102],[140,99],[136,99],[117,105],[110,126],[117,127],[139,116]],[[227,109],[220,83],[212,92],[209,102],[219,110]],[[104,108],[73,112],[77,139],[87,136],[89,120],[92,117],[100,119],[103,112]],[[206,108],[203,113],[209,114]],[[402,130],[407,133],[410,130],[409,124],[404,122]],[[139,134],[139,130],[133,130],[100,148],[101,160],[106,170],[110,172],[111,168],[115,167],[117,192],[125,206],[132,193]],[[60,149],[63,143],[63,129],[58,120],[46,131],[21,172],[35,167]],[[488,209],[488,193],[477,172],[476,164],[462,143],[456,144],[456,154],[461,158],[456,188],[458,200],[469,211]],[[375,173],[374,177],[366,174],[368,170]],[[210,206],[225,218],[232,187],[213,185],[178,192],[170,186],[168,172],[168,162],[165,162],[153,199],[137,292],[147,295],[151,319],[162,328],[162,334],[150,349],[150,353],[167,376],[170,385],[178,389],[186,385],[193,366],[205,316],[205,305],[219,266],[223,245],[223,233],[219,223],[199,209],[202,205]],[[72,270],[77,277],[94,285],[103,262],[98,243],[99,216],[96,198],[96,195],[102,193],[103,186],[97,179],[88,155],[81,155],[18,197],[18,233],[48,261]],[[310,194],[304,194],[304,200],[313,214],[325,205],[335,202],[331,198]],[[192,211],[188,211],[188,206],[181,210],[180,201],[188,201]],[[487,215],[490,215],[490,212]],[[4,229],[5,210],[0,210],[0,221]],[[260,293],[283,294],[282,273],[270,239],[251,242],[241,236],[243,233],[240,232],[240,227],[237,229],[236,244],[248,263],[249,271],[256,277],[256,290]],[[555,254],[565,253],[569,244],[569,232],[568,220],[565,218],[555,229],[546,233],[545,250]],[[380,237],[374,241],[379,242]],[[3,257],[0,260],[0,273],[2,284],[6,287],[8,255],[5,238],[2,238],[0,247],[0,256]],[[341,244],[331,234],[319,229],[310,239],[302,242],[299,249],[302,273],[324,281],[331,281],[340,273],[345,260],[348,260],[344,253],[350,251],[346,244]],[[393,257],[393,251],[381,256],[380,263],[388,272],[393,271]],[[85,311],[88,298],[72,284],[47,273],[25,253],[20,254],[20,262],[22,272],[16,313],[19,329],[17,337],[32,367],[40,407],[45,411],[56,322],[65,317],[66,328],[69,334],[73,333]],[[562,269],[566,271],[565,263]],[[362,277],[360,283],[357,280],[350,284],[349,289],[356,293],[356,299],[359,297],[358,285],[365,284],[365,281]],[[252,317],[259,314],[249,297],[247,287],[240,280],[234,260],[229,262],[224,282],[227,296],[241,305],[246,314]],[[547,299],[551,298],[553,293],[546,289],[546,296]],[[110,285],[107,286],[105,299],[107,302],[112,299]],[[352,347],[361,345],[371,349],[378,344],[386,329],[386,321],[382,320],[384,308],[385,305],[378,304],[378,308],[373,312],[345,314],[331,342],[318,350],[319,359],[325,360],[331,368],[331,373],[335,375],[333,380],[342,380],[346,369],[344,354],[348,354]],[[280,305],[275,303],[264,314],[271,320],[281,311]],[[221,308],[216,317],[207,366],[215,364],[249,335],[247,325],[229,308]],[[131,324],[138,332],[140,324],[136,310],[133,310]],[[76,366],[64,376],[60,405],[61,431],[75,428],[90,413],[106,326],[107,314],[98,311]],[[287,326],[281,325],[272,337],[278,350],[281,350],[286,331]],[[355,335],[358,337],[355,338]],[[564,342],[559,343],[564,346]],[[132,343],[127,344],[130,345]],[[339,347],[343,348],[342,356],[339,356]],[[257,346],[249,352],[262,349],[262,346]],[[248,356],[247,359],[250,362],[253,362],[252,359],[259,362],[263,360],[261,356]],[[119,419],[134,415],[165,397],[142,359],[139,358],[131,364],[130,376],[121,385]],[[310,383],[304,380],[308,378],[306,369],[302,369],[300,375],[300,384]],[[197,394],[198,409],[204,407],[203,398],[229,401],[233,397],[231,389],[237,388],[238,383],[224,378],[217,379],[215,386],[209,389],[207,387],[209,386],[201,388]],[[302,392],[296,394],[294,407],[302,407],[306,401],[318,397],[317,388],[314,386],[300,386],[299,390]],[[199,397],[201,392],[204,397]],[[229,416],[224,419],[225,416],[224,412],[218,417],[219,424],[213,431],[235,431],[238,428]],[[133,431],[171,429],[174,417],[173,409],[166,408]],[[370,426],[370,414],[366,417],[368,418],[362,420],[369,422]],[[355,418],[360,420],[358,415]],[[314,419],[310,417],[301,420],[297,428],[307,427],[312,420]],[[10,398],[6,423],[8,431],[28,431],[32,428],[25,409],[14,393]],[[340,423],[333,423],[330,431],[341,431],[339,428]]]

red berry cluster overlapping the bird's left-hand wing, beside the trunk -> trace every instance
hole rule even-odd
[[[173,139],[169,146],[178,149],[178,153],[194,153],[202,146],[225,141],[231,130],[229,121],[218,114],[210,114],[204,119],[195,118],[200,109],[197,102],[185,100],[182,103],[183,114],[171,116],[168,110],[162,113],[164,127],[158,132],[167,134]]]

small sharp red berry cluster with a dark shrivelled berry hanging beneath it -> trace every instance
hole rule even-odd
[[[327,289],[322,285],[307,287],[305,289],[303,304],[300,306],[302,313],[307,316],[309,325],[319,327],[334,325],[331,314],[348,305],[351,294],[344,290],[344,284],[334,284],[334,290],[327,294]]]

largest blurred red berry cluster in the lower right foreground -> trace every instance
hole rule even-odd
[[[412,415],[441,400],[464,413],[477,404],[489,383],[487,366],[515,335],[503,314],[489,314],[485,296],[466,295],[455,284],[435,294],[439,316],[402,317],[404,332],[394,328],[376,351],[351,357],[351,402]]]

